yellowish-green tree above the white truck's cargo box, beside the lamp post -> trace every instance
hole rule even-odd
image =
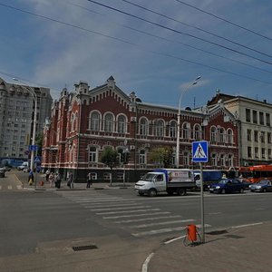
[[[173,149],[172,147],[160,147],[151,151],[151,161],[162,168],[172,167]]]

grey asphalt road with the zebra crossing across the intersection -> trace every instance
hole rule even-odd
[[[204,199],[206,232],[272,220],[272,193],[206,193]],[[149,198],[132,188],[3,187],[0,214],[0,271],[141,271],[153,248],[183,235],[188,224],[201,224],[199,192]]]

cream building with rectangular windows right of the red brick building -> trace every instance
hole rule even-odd
[[[238,141],[241,166],[272,163],[272,104],[242,96],[218,93],[210,102],[223,102],[239,121]]]

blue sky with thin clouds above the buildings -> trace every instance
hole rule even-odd
[[[112,75],[142,102],[196,108],[222,92],[272,103],[270,0],[0,0],[0,12],[0,77],[53,99]]]

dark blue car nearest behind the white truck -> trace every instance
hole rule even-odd
[[[210,193],[231,193],[244,192],[245,185],[240,180],[236,179],[221,179],[218,183],[209,186]]]

